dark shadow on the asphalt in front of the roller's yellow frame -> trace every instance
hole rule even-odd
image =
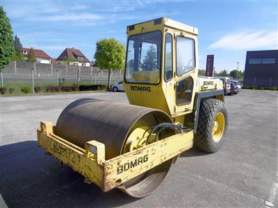
[[[116,207],[131,198],[117,189],[103,193],[71,168],[44,155],[36,141],[0,146],[0,193],[8,207]]]

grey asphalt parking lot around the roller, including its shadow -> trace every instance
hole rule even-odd
[[[38,147],[40,121],[56,123],[65,106],[84,97],[128,102],[120,92],[1,98],[1,208],[277,207],[277,92],[226,96],[229,129],[222,149],[181,154],[158,189],[141,199],[85,184]]]

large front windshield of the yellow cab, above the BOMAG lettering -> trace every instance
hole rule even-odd
[[[161,32],[129,37],[126,55],[126,83],[157,84],[161,74]]]

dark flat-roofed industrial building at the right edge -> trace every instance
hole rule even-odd
[[[278,87],[278,50],[247,51],[244,85]]]

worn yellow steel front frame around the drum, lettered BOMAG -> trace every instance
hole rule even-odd
[[[104,144],[88,141],[85,149],[54,134],[51,122],[41,122],[38,144],[47,153],[81,173],[85,181],[109,191],[193,147],[193,131],[183,132],[129,153],[105,160]]]

